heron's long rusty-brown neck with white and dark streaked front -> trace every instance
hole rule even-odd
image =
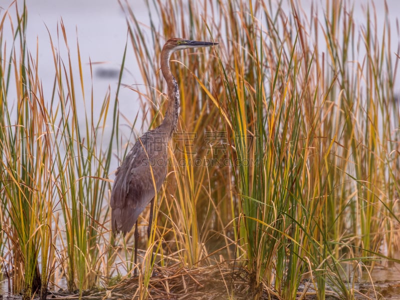
[[[169,68],[170,55],[169,51],[161,52],[161,71],[168,87],[168,106],[160,127],[166,131],[169,138],[176,129],[179,116],[179,87]]]

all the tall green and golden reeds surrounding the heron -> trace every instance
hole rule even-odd
[[[10,21],[1,11],[0,268],[12,292],[45,298],[64,278],[82,296],[138,267],[133,294],[151,294],[150,250],[135,266],[133,234],[110,234],[111,161],[161,121],[159,54],[178,36],[219,45],[172,57],[180,119],[156,198],[154,247],[142,226],[139,249],[154,248],[163,274],[169,267],[244,270],[251,298],[379,298],[375,282],[369,289],[356,282],[360,272],[400,262],[398,27],[376,19],[373,2],[361,24],[347,1],[308,11],[283,2],[146,1],[146,25],[122,3],[128,39],[118,89],[101,99],[83,83],[81,70],[91,65],[62,21],[49,36],[53,80],[42,82],[44,62],[24,40],[25,7],[9,8],[18,14],[12,44],[1,38]],[[143,89],[121,80],[132,54]],[[43,85],[51,87],[48,98]],[[140,101],[142,117],[119,111],[122,87]],[[8,98],[10,89],[16,98]],[[139,223],[147,219],[146,210]],[[227,277],[220,282],[235,298]]]

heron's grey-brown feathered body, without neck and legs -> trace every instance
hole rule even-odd
[[[116,171],[111,193],[113,232],[125,234],[130,231],[139,214],[161,187],[168,159],[166,150],[169,139],[164,133],[161,127],[144,133]]]

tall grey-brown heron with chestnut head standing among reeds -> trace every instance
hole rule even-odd
[[[134,264],[137,262],[137,218],[150,202],[147,236],[150,237],[154,209],[154,196],[166,176],[167,145],[176,129],[179,116],[179,88],[169,68],[171,53],[177,50],[208,47],[215,42],[171,38],[161,51],[161,71],[168,87],[168,104],[161,124],[140,136],[115,172],[111,192],[112,232],[123,235],[134,231]],[[135,273],[135,271],[134,271]]]

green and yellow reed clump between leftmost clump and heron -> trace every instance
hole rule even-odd
[[[82,72],[78,81],[80,90],[75,85],[72,72],[71,54],[66,39],[65,28],[60,23],[65,46],[68,49],[67,61],[64,62],[53,50],[55,85],[57,103],[55,111],[61,114],[60,122],[53,123],[52,130],[57,141],[55,163],[57,169],[56,196],[65,222],[66,252],[65,265],[69,290],[79,290],[94,286],[97,283],[97,268],[100,252],[99,242],[104,237],[103,224],[107,218],[107,206],[103,200],[108,196],[109,182],[105,178],[109,173],[112,149],[114,144],[115,122],[117,120],[117,102],[112,108],[110,94],[107,92],[101,103],[99,114],[93,115],[93,106],[98,105],[90,90],[86,98]],[[53,42],[50,36],[50,43]],[[79,44],[76,44],[78,69],[82,69]],[[123,66],[122,66],[123,67]],[[79,92],[79,93],[78,93]],[[86,103],[88,99],[88,103]],[[82,102],[80,102],[82,101]],[[84,124],[77,119],[77,109],[84,107]],[[89,111],[86,110],[88,107]],[[112,108],[112,110],[111,110]],[[79,108],[80,109],[80,108]],[[111,112],[109,113],[109,111]],[[106,125],[106,122],[110,124]],[[104,136],[106,126],[112,126],[110,136]],[[105,137],[105,140],[103,140]],[[106,149],[102,145],[107,142]],[[104,211],[104,208],[106,210]]]

